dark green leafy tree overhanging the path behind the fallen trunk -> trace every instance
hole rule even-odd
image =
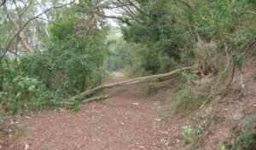
[[[189,32],[183,26],[176,26],[175,20],[170,20],[170,3],[166,0],[140,2],[147,13],[137,14],[139,23],[131,21],[131,26],[122,27],[125,41],[143,45],[138,55],[142,55],[140,61],[143,69],[152,74],[169,72],[174,66],[172,59],[181,61],[180,49],[192,43]]]

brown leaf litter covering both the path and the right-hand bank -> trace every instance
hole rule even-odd
[[[230,93],[218,95],[200,110],[189,115],[178,113],[170,118],[173,89],[143,95],[137,89],[111,99],[83,105],[79,112],[52,111],[31,113],[7,119],[8,128],[1,129],[0,149],[219,149],[223,142],[239,130],[241,120],[256,112],[256,63],[244,67],[247,95],[241,96],[239,74]],[[118,74],[118,73],[117,73]],[[127,78],[109,78],[114,83]],[[114,90],[114,89],[109,89]],[[238,92],[236,92],[238,91]],[[204,127],[195,143],[183,142],[182,126]]]

